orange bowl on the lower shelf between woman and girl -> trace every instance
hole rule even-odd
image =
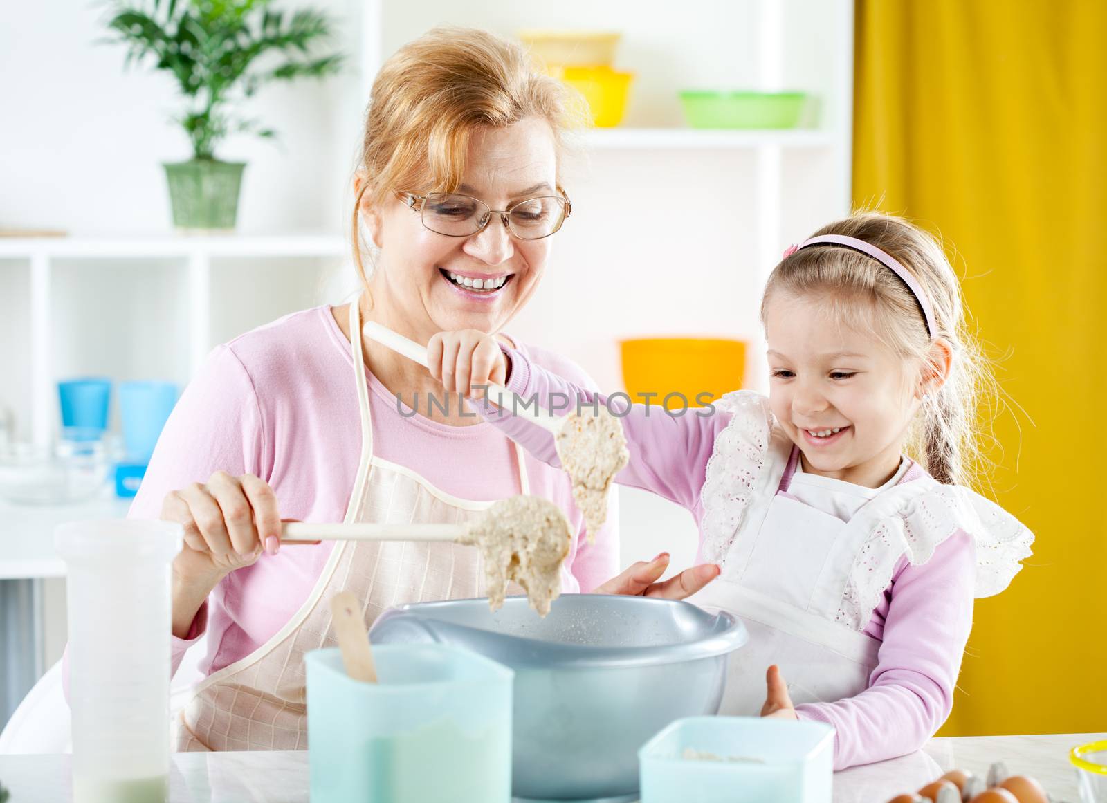
[[[722,337],[646,337],[620,341],[623,384],[631,400],[669,410],[705,407],[742,387],[746,344]],[[677,394],[676,396],[669,396]],[[665,397],[669,396],[669,400]],[[685,403],[686,399],[686,403]]]

